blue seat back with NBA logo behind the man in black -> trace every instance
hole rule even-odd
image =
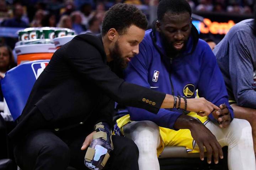
[[[12,68],[6,73],[5,78],[1,82],[1,87],[14,120],[21,115],[36,79],[48,63],[49,60],[30,61]],[[1,166],[12,166],[12,163],[10,159],[0,160],[0,169]],[[15,169],[17,169],[17,166]],[[76,169],[68,167],[67,170]]]

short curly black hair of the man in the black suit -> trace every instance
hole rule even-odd
[[[132,25],[146,30],[148,26],[146,16],[134,5],[116,4],[106,12],[101,34],[104,36],[108,30],[114,28],[122,35]]]

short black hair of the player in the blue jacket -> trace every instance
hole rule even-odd
[[[166,12],[180,14],[188,12],[191,16],[192,10],[186,0],[161,0],[158,4],[157,17],[161,21]]]

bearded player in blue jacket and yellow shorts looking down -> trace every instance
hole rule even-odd
[[[161,0],[158,21],[146,31],[139,54],[125,71],[125,79],[177,96],[174,109],[152,114],[128,107],[129,115],[117,120],[116,130],[132,138],[139,148],[140,170],[159,170],[157,156],[164,146],[200,152],[202,160],[207,151],[208,163],[213,155],[217,164],[218,157],[222,158],[216,149],[218,144],[228,146],[229,170],[256,169],[251,126],[246,120],[234,119],[216,58],[209,45],[198,38],[186,0]],[[199,97],[220,110],[201,117],[200,113],[179,109],[180,100],[194,98],[197,89]],[[215,139],[218,144],[212,142]]]

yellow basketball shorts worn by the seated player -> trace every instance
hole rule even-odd
[[[210,120],[207,116],[201,117],[198,116],[195,112],[190,112],[187,115],[198,118],[204,125],[206,125]],[[130,115],[124,115],[123,117],[117,120],[117,124],[115,125],[117,129],[120,130],[121,134],[123,133],[124,125],[132,122],[130,120]],[[158,156],[162,153],[165,146],[183,146],[187,148],[188,153],[198,153],[198,147],[195,148],[195,141],[191,136],[191,132],[189,129],[180,129],[180,130],[172,130],[169,128],[159,127],[160,130],[160,138],[162,139],[161,145],[157,148]]]

